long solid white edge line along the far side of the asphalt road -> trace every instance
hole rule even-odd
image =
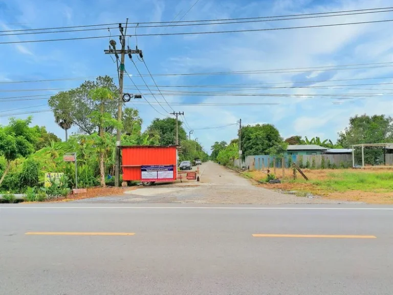
[[[393,210],[388,208],[356,208],[356,207],[153,207],[153,206],[0,206],[0,209],[220,209],[220,210]]]

